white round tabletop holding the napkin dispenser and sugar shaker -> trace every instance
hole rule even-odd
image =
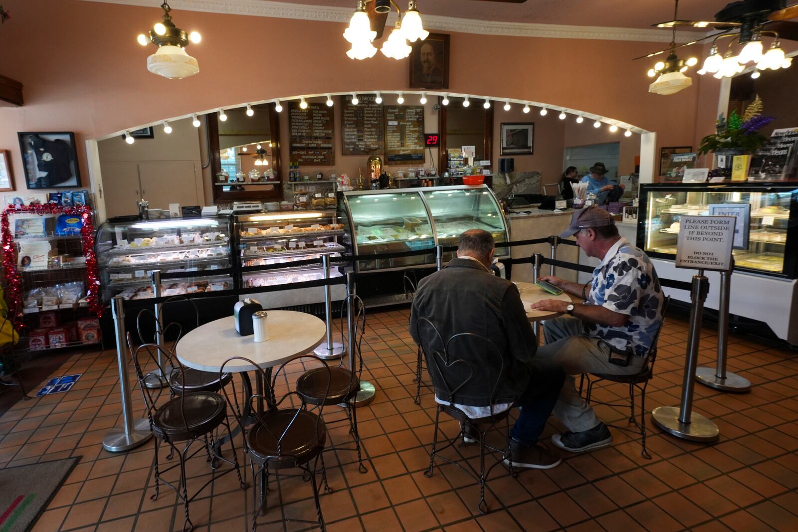
[[[259,368],[271,368],[312,351],[326,337],[324,321],[312,314],[292,310],[267,310],[267,341],[255,335],[235,332],[232,316],[200,325],[177,342],[180,364],[205,372],[218,372],[230,357],[245,357]],[[232,361],[226,372],[247,372],[256,368],[244,361]]]

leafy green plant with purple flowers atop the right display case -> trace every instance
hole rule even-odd
[[[715,132],[701,139],[699,155],[713,152],[716,160],[717,156],[726,156],[725,166],[731,167],[733,156],[756,152],[768,142],[768,137],[760,130],[773,120],[772,116],[762,114],[762,108],[762,100],[757,96],[745,108],[743,116],[734,110],[729,113],[729,120],[725,120],[721,113],[715,123]]]

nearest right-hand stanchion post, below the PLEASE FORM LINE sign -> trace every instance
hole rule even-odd
[[[685,358],[685,376],[681,384],[681,406],[657,407],[651,412],[654,424],[663,431],[678,438],[701,442],[715,441],[720,436],[720,431],[712,420],[701,416],[701,414],[693,413],[693,388],[695,387],[698,345],[701,341],[701,318],[707,292],[709,292],[709,280],[705,277],[704,270],[698,270],[698,274],[693,276],[693,286],[690,290],[692,305]]]

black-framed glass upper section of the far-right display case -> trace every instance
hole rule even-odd
[[[788,185],[643,184],[638,246],[651,257],[675,258],[681,215],[708,215],[715,204],[751,205],[749,247],[734,250],[735,270],[798,277],[798,188]]]

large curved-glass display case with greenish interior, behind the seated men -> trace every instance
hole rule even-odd
[[[389,254],[456,246],[468,229],[490,231],[509,240],[509,226],[496,196],[485,185],[344,191],[338,194],[345,243],[354,254]],[[507,255],[499,248],[496,257]],[[448,258],[445,258],[448,260]],[[435,254],[361,260],[358,271],[404,270],[435,265]]]

